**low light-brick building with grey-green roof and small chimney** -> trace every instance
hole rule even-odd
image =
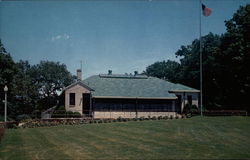
[[[199,90],[155,77],[99,74],[64,89],[65,108],[94,118],[135,118],[181,114],[185,104],[198,106]]]

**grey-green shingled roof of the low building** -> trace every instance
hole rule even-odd
[[[169,93],[170,90],[195,90],[181,84],[141,75],[100,74],[85,79],[83,83],[94,90],[94,97],[176,98],[175,94]]]

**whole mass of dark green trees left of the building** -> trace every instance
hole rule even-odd
[[[15,63],[0,41],[0,88],[9,88],[8,117],[16,119],[17,115],[28,114],[39,118],[41,111],[57,104],[58,93],[73,81],[66,66],[59,62],[41,61],[33,66],[28,61]],[[0,97],[4,97],[4,92],[0,92]],[[3,111],[1,100],[1,115]]]

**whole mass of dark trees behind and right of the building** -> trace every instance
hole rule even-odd
[[[227,32],[209,33],[202,40],[203,100],[208,109],[250,110],[250,4],[225,21]],[[181,46],[180,63],[156,62],[145,73],[174,83],[200,88],[200,40]]]

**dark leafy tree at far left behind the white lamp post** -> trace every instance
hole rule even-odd
[[[29,75],[27,61],[15,63],[0,41],[0,113],[4,114],[4,85],[8,86],[8,117],[31,114],[36,107],[38,90]]]

